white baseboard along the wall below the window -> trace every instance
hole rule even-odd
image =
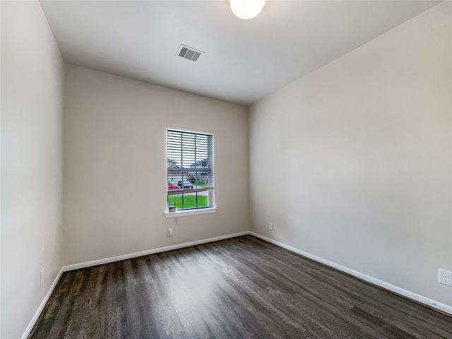
[[[158,249],[148,249],[147,251],[135,252],[135,253],[131,253],[131,254],[124,254],[122,256],[112,256],[111,258],[86,261],[85,263],[74,263],[73,265],[63,266],[62,270],[64,272],[66,272],[68,270],[78,270],[79,268],[86,268],[86,267],[90,267],[90,266],[102,265],[104,263],[113,263],[114,261],[121,261],[121,260],[126,260],[126,259],[131,259],[131,258],[137,258],[138,256],[148,256],[149,254],[171,251],[172,249],[182,249],[184,247],[206,244],[208,242],[217,242],[218,240],[240,237],[240,236],[246,235],[246,234],[249,234],[249,231],[222,235],[221,237],[196,240],[195,242],[184,242],[184,244],[165,246],[165,247],[160,247]]]

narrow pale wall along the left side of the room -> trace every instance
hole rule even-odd
[[[38,1],[0,6],[0,337],[16,339],[61,268],[64,62]]]

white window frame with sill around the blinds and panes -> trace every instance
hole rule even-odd
[[[174,132],[175,134],[177,133],[181,133],[181,150],[180,150],[180,159],[179,157],[176,157],[177,160],[179,160],[180,162],[184,162],[184,150],[186,150],[187,148],[184,147],[184,144],[182,143],[183,140],[183,136],[184,133],[186,133],[186,137],[193,137],[195,139],[192,140],[196,140],[196,136],[207,136],[207,141],[205,141],[204,143],[207,144],[206,148],[202,148],[201,151],[199,151],[198,153],[201,153],[201,157],[198,157],[198,160],[195,161],[194,163],[190,164],[189,167],[188,166],[184,166],[183,163],[181,163],[181,168],[182,170],[179,171],[179,175],[180,175],[180,179],[179,181],[191,181],[190,177],[195,177],[195,182],[198,182],[198,176],[199,173],[198,172],[204,172],[204,171],[199,171],[200,168],[204,168],[203,167],[203,163],[201,163],[201,167],[198,167],[198,162],[203,162],[204,159],[208,160],[208,165],[206,165],[206,167],[208,168],[208,178],[207,178],[207,184],[208,186],[206,187],[202,187],[199,188],[196,187],[194,189],[184,189],[182,187],[182,189],[179,190],[168,190],[167,189],[167,203],[166,203],[166,210],[165,210],[165,217],[166,218],[177,218],[179,216],[188,216],[188,215],[198,215],[198,214],[208,214],[208,213],[215,213],[216,211],[216,207],[215,207],[215,189],[214,189],[214,172],[215,172],[215,167],[213,166],[214,164],[214,136],[213,133],[211,131],[201,131],[201,130],[196,130],[196,129],[185,129],[185,128],[181,128],[181,127],[176,127],[176,126],[167,126],[166,129],[166,157],[167,157],[167,183],[171,182],[172,184],[174,184],[174,177],[172,177],[172,180],[169,180],[169,162],[174,162],[174,152],[179,153],[179,150],[177,150],[177,148],[173,148],[169,145],[169,140],[170,138],[174,138],[173,136],[170,136],[169,132]],[[203,143],[202,141],[200,141],[201,144]],[[189,144],[189,141],[187,141],[187,143],[185,145]],[[189,144],[189,151],[191,152],[191,156],[195,157],[196,160],[196,141],[195,141],[195,146],[194,149],[191,149],[192,145]],[[173,153],[173,156],[169,155],[169,150],[171,149],[171,152]],[[194,153],[193,153],[194,151]],[[206,154],[207,153],[207,157],[206,158],[202,158],[202,154]],[[196,154],[196,155],[194,155]],[[191,158],[191,156],[186,156],[185,158]],[[202,158],[202,159],[201,159]],[[176,163],[176,162],[174,162]],[[195,166],[195,167],[193,167]],[[174,172],[178,172],[178,171],[174,171]],[[196,173],[194,175],[191,175],[191,173]],[[184,179],[184,177],[189,177],[189,179]],[[177,177],[177,175],[176,175]],[[169,197],[170,196],[177,196],[177,195],[182,195],[182,197],[184,197],[185,194],[196,194],[196,196],[198,196],[198,193],[200,192],[208,192],[208,206],[196,206],[196,207],[191,207],[191,208],[181,208],[178,210],[170,210],[169,209]],[[198,202],[198,199],[196,198],[196,203]]]

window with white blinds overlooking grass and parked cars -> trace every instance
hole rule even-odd
[[[167,130],[167,211],[213,208],[213,135]]]

